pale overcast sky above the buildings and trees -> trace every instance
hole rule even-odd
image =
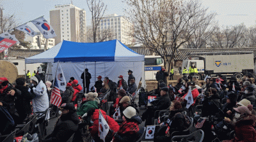
[[[26,23],[37,17],[45,15],[49,20],[49,11],[54,9],[56,4],[70,4],[70,0],[0,0],[4,8],[4,15],[13,13],[19,19],[20,24]],[[106,14],[116,13],[124,15],[123,0],[103,0],[108,5]],[[255,25],[256,20],[256,0],[202,0],[209,11],[214,11],[218,15],[216,20],[220,25],[237,25],[244,23],[247,27]],[[73,4],[79,8],[84,8],[86,18],[90,19],[90,13],[86,0],[73,0]],[[88,21],[88,20],[87,20]],[[88,22],[88,25],[90,22]],[[31,24],[29,24],[31,25]],[[32,27],[33,28],[33,27]],[[33,28],[34,29],[34,28]]]

